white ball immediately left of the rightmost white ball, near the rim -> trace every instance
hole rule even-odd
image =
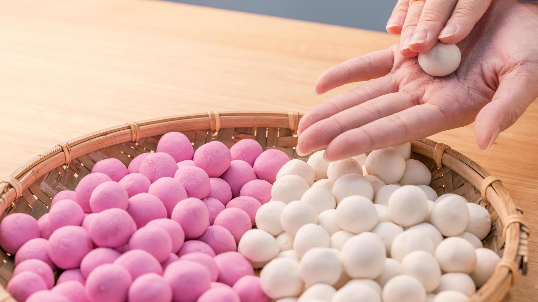
[[[449,237],[441,241],[435,249],[435,258],[445,272],[464,272],[475,270],[475,247],[459,237]]]

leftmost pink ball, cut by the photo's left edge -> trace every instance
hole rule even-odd
[[[27,241],[39,237],[39,224],[36,218],[28,214],[12,213],[0,223],[0,246],[12,255]]]

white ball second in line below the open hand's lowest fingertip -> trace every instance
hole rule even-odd
[[[352,195],[364,196],[368,200],[373,199],[373,187],[363,175],[345,174],[335,181],[332,187],[332,194],[336,198],[336,203],[341,202],[345,197]]]

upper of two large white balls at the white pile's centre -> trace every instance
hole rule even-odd
[[[364,196],[349,196],[336,207],[338,226],[351,233],[370,231],[378,223],[377,210]]]

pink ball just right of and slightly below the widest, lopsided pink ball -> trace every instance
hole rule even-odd
[[[131,235],[129,249],[142,249],[157,261],[165,262],[172,253],[172,239],[161,227],[144,226]]]

